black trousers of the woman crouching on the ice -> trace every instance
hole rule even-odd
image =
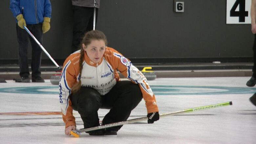
[[[81,115],[84,128],[99,126],[98,109],[110,109],[105,115],[102,125],[125,121],[131,111],[139,104],[142,93],[138,84],[131,81],[119,81],[105,95],[100,95],[95,89],[81,87],[71,96],[72,107]],[[121,126],[111,129],[119,130]]]

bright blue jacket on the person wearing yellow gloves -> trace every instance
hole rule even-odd
[[[26,24],[42,23],[44,17],[51,18],[52,14],[50,0],[11,0],[10,9],[15,18],[23,14]]]

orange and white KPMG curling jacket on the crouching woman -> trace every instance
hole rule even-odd
[[[64,62],[59,82],[59,102],[66,127],[75,125],[72,103],[69,98],[71,89],[81,74],[81,86],[96,89],[101,95],[108,93],[120,81],[117,70],[133,83],[139,84],[147,113],[158,112],[155,95],[145,76],[122,54],[113,48],[106,51],[99,63],[92,62],[84,53],[83,70],[79,73],[80,50],[72,53]]]

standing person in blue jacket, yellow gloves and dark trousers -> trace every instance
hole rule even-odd
[[[42,44],[43,33],[50,30],[52,6],[50,0],[11,0],[10,9],[16,18],[21,82],[31,82],[28,64],[28,43],[32,46],[32,82],[44,82],[40,65],[42,49],[24,29],[26,26]]]

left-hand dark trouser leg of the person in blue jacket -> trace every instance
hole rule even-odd
[[[29,64],[28,64],[28,43],[29,34],[25,29],[21,29],[16,24],[17,38],[18,38],[18,50],[19,50],[19,66],[20,76],[29,76]]]

